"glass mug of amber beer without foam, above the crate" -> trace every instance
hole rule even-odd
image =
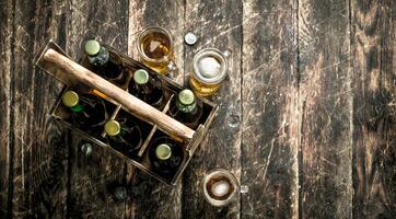
[[[140,61],[161,74],[175,71],[174,48],[168,31],[160,26],[149,26],[137,38]]]

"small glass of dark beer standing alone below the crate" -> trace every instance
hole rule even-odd
[[[212,206],[221,207],[231,203],[237,193],[237,180],[228,170],[217,169],[203,177],[203,195]]]

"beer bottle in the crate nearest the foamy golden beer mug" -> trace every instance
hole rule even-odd
[[[202,103],[191,90],[185,89],[172,100],[170,115],[190,128],[197,128],[202,116]]]

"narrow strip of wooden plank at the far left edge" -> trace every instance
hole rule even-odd
[[[10,148],[10,104],[11,104],[11,59],[13,38],[12,1],[0,3],[0,218],[10,217],[11,208],[10,194],[12,194],[12,185],[10,185],[10,160],[12,153]]]

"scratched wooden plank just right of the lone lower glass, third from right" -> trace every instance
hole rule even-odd
[[[242,218],[298,218],[296,3],[244,1]]]

